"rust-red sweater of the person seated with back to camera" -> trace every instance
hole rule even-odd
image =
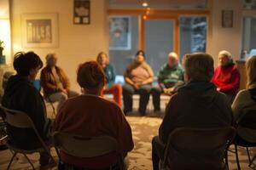
[[[117,139],[123,156],[133,149],[131,127],[119,106],[94,95],[67,99],[55,118],[54,130],[83,136],[112,136]],[[88,168],[107,167],[109,162],[117,161],[115,154],[89,159],[69,156],[64,152],[61,152],[61,160]]]

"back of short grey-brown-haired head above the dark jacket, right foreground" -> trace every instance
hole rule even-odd
[[[211,81],[214,71],[213,63],[214,61],[210,54],[185,54],[183,57],[185,74],[193,81]]]

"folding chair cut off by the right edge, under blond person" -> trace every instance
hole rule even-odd
[[[255,136],[256,136],[256,110],[249,110],[249,109],[246,110],[244,115],[241,116],[241,118],[237,121],[237,127],[247,128],[247,130],[250,130],[250,131],[252,131],[252,133],[255,133]],[[256,141],[256,138],[254,140]],[[250,143],[250,142],[239,141],[239,140],[235,139],[234,144],[235,144],[235,152],[236,152],[237,169],[238,170],[241,169],[240,163],[239,163],[237,146],[242,146],[242,147],[245,147],[247,149],[249,167],[251,167],[253,161],[256,158],[256,155],[253,156],[253,159],[251,159],[248,148],[256,147],[256,142],[255,143]]]

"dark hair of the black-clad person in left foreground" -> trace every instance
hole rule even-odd
[[[14,68],[20,76],[28,76],[31,69],[43,67],[43,62],[34,52],[18,52],[15,54]]]

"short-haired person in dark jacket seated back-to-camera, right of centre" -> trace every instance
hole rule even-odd
[[[214,70],[212,56],[202,53],[185,55],[183,68],[187,83],[178,89],[177,94],[172,95],[166,106],[166,116],[160,125],[159,137],[152,140],[154,170],[159,169],[159,161],[163,160],[168,137],[177,127],[212,128],[233,124],[228,100],[210,82]],[[201,169],[201,166],[220,169],[215,162],[223,156],[223,150],[216,150],[216,156],[212,156],[210,152],[210,159],[208,156],[193,157],[183,155],[177,150],[171,151],[168,159],[170,169]]]

